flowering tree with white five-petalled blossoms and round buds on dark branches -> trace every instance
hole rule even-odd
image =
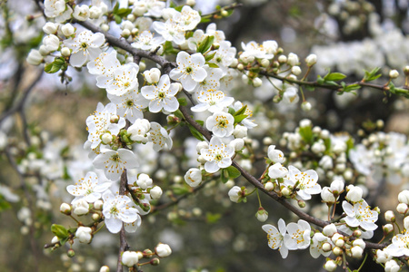
[[[151,240],[145,249],[137,236],[136,242],[130,242],[130,237],[143,228],[145,219],[181,205],[190,196],[198,198],[201,191],[216,189],[235,203],[258,199],[258,207],[252,207],[258,221],[269,219],[268,207],[274,204],[265,203],[271,202],[285,219],[289,213],[298,218],[286,224],[277,212],[277,219],[257,227],[264,244],[278,249],[283,258],[291,256],[290,251],[309,248],[311,257],[326,257],[327,271],[337,267],[359,271],[368,259],[385,271],[407,266],[409,190],[401,188],[396,197],[399,218],[392,210],[375,207],[381,204],[377,194],[385,183],[403,184],[409,176],[404,134],[380,131],[383,121],[369,121],[366,131],[356,132],[359,138],[354,138],[305,118],[292,132],[269,131],[274,112],[285,116],[301,108],[302,114],[320,115],[321,101],[314,99],[315,92],[338,94],[346,108],[352,107],[351,94],[359,92],[378,92],[382,95],[375,96],[378,100],[407,103],[409,66],[394,62],[391,52],[385,52],[388,63],[349,59],[345,67],[344,60],[330,59],[330,49],[324,46],[314,47],[304,60],[286,53],[274,40],[242,42],[241,48],[235,48],[214,21],[232,15],[241,7],[238,4],[217,6],[209,14],[198,12],[195,1],[33,4],[42,14],[30,20],[38,22],[44,34],[31,44],[35,48],[29,51],[27,63],[41,66],[45,73],[58,73],[61,83],[68,85],[80,81],[73,79],[75,73],[87,73],[103,93],[95,92],[102,102],[95,102],[96,110],[89,112],[85,122],[75,124],[86,126],[87,139],[79,148],[62,139],[46,139],[44,131],[30,130],[25,102],[37,79],[19,100],[12,100],[14,104],[5,108],[0,119],[6,123],[17,114],[22,120],[22,142],[8,136],[13,131],[6,127],[0,136],[5,158],[25,191],[25,205],[17,214],[25,232],[35,238],[30,191],[36,192],[36,206],[44,210],[52,209],[50,197],[56,197],[66,216],[61,221],[45,220],[54,235],[45,245],[47,250],[65,250],[68,257],[76,257],[76,248],[90,247],[79,244],[92,245],[98,239],[100,245],[104,243],[99,233],[107,229],[110,237],[119,237],[116,263],[104,265],[100,257],[99,271],[165,267],[166,260],[161,263],[161,259],[172,254],[168,244]],[[357,24],[351,15],[353,19],[344,20],[344,26],[340,23],[345,40],[364,26],[374,28],[375,37],[382,36],[379,23],[370,17],[374,7],[369,2],[325,8],[335,19],[343,12],[362,12],[366,22],[372,22]],[[13,38],[11,28],[7,34]],[[404,81],[387,65],[404,67]],[[237,77],[253,88],[254,102],[239,100],[245,96],[237,92],[243,86],[234,86]],[[294,122],[290,119],[284,122]],[[20,201],[11,185],[2,185],[0,195],[4,209]],[[202,210],[192,209],[188,216],[169,212],[167,219],[180,223],[195,216],[200,218]],[[206,222],[220,217],[209,212]]]

